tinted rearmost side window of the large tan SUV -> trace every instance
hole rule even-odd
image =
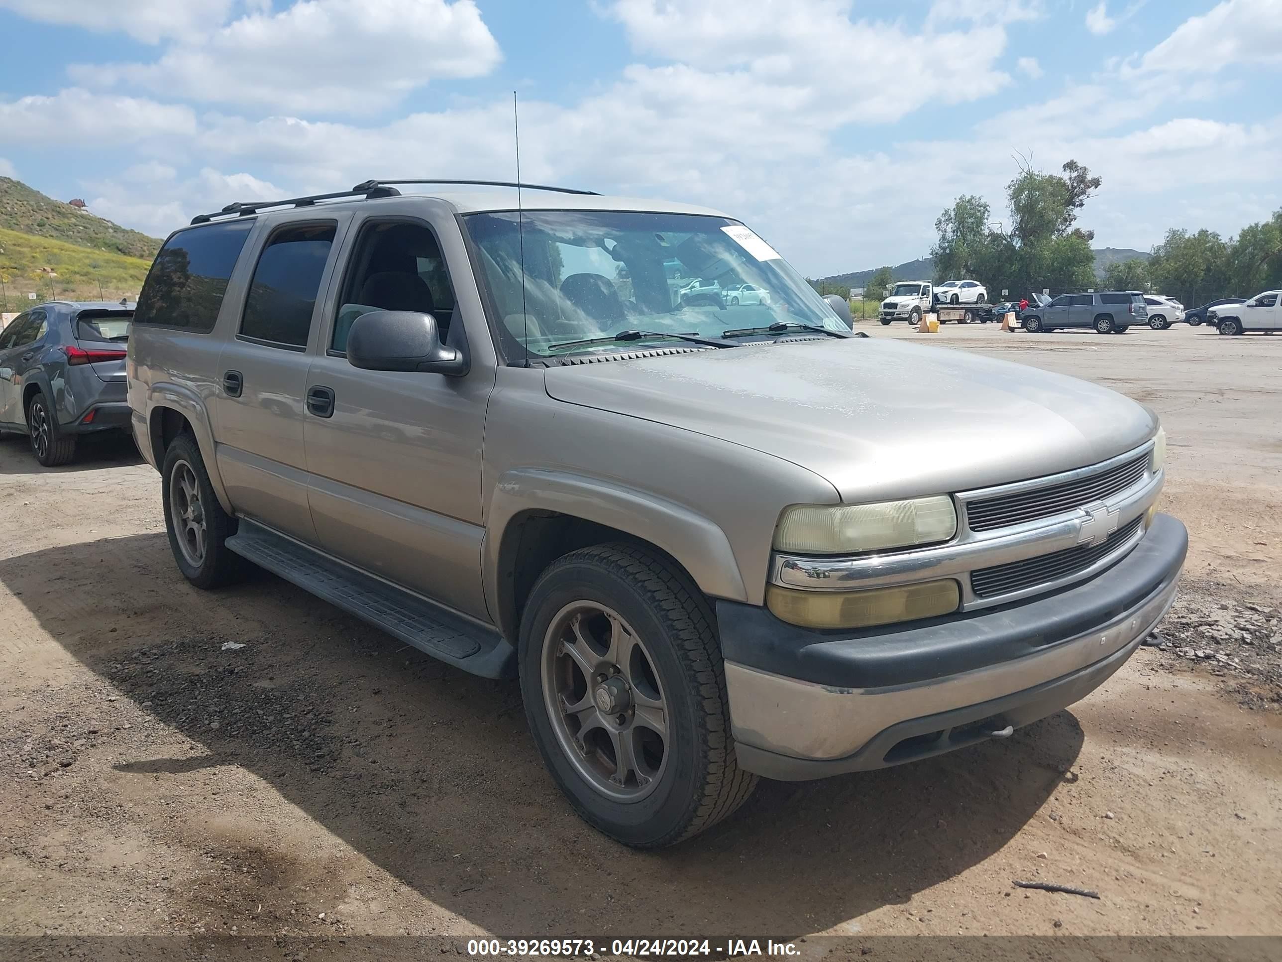
[[[253,226],[253,221],[213,223],[165,241],[142,285],[133,323],[213,331]]]

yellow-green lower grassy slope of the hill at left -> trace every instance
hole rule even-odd
[[[36,300],[135,300],[151,267],[133,258],[0,228],[0,310],[26,310]]]

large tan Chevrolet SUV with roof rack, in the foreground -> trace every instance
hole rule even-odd
[[[1187,539],[1146,408],[855,335],[715,210],[396,183],[165,241],[129,403],[173,555],[518,676],[610,836],[1006,738],[1172,603]],[[770,303],[685,304],[674,259]]]

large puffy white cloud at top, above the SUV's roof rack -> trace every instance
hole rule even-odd
[[[76,65],[82,83],[299,113],[378,110],[500,60],[473,0],[297,0],[186,38],[155,63]]]

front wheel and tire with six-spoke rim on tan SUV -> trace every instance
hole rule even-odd
[[[756,785],[735,759],[712,609],[654,552],[608,544],[553,562],[526,605],[518,658],[544,763],[610,838],[688,839]]]

